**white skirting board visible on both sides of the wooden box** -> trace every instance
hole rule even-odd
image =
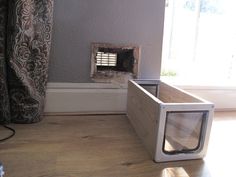
[[[236,110],[236,88],[179,87],[213,102],[217,111]],[[125,85],[48,83],[45,114],[123,114],[126,103]]]

